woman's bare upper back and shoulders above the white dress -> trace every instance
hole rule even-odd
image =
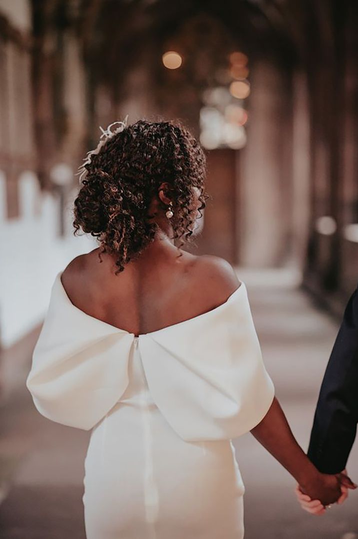
[[[135,335],[191,319],[227,300],[240,285],[219,257],[153,245],[115,275],[114,257],[99,249],[76,257],[61,276],[73,305]]]

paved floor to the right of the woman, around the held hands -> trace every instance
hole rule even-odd
[[[292,289],[290,275],[240,273],[247,282],[266,367],[292,431],[307,450],[318,390],[339,323],[317,312],[310,298]],[[296,482],[251,434],[235,442],[245,492],[245,539],[357,539],[358,494],[323,516],[300,509]],[[348,461],[358,480],[358,439]]]

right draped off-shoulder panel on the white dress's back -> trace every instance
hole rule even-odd
[[[272,404],[245,288],[210,320],[143,335],[139,347],[153,400],[186,441],[241,436]]]

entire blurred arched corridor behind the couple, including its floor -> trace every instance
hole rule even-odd
[[[55,275],[97,246],[73,236],[75,173],[127,114],[179,118],[206,149],[212,199],[186,248],[247,284],[307,449],[358,283],[357,27],[355,0],[0,0],[1,537],[85,538],[89,435],[41,417],[24,381]],[[358,538],[356,493],[312,517],[250,434],[235,447],[247,539]]]

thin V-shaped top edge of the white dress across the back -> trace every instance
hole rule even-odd
[[[55,282],[57,282],[58,287],[60,289],[60,293],[62,294],[64,300],[66,301],[66,303],[69,306],[71,306],[71,308],[73,308],[76,312],[80,313],[82,316],[85,316],[85,317],[87,317],[89,319],[92,319],[92,320],[98,322],[99,324],[102,324],[103,327],[107,326],[107,327],[109,327],[111,329],[117,330],[120,333],[126,333],[127,335],[132,335],[135,338],[145,337],[146,335],[154,335],[154,334],[162,333],[165,330],[169,330],[169,329],[172,329],[172,328],[175,328],[175,327],[179,327],[179,326],[182,326],[184,324],[187,324],[188,322],[193,322],[195,320],[201,319],[201,318],[206,317],[208,315],[212,315],[214,313],[217,313],[217,311],[221,310],[223,307],[226,307],[227,304],[230,303],[234,298],[236,298],[236,296],[239,293],[241,294],[241,292],[244,289],[246,289],[244,281],[241,281],[240,285],[234,290],[234,292],[232,292],[229,295],[229,297],[225,301],[220,303],[220,305],[218,305],[217,307],[214,307],[213,309],[207,310],[204,313],[198,314],[196,316],[192,316],[191,318],[188,318],[186,320],[182,320],[181,322],[176,322],[174,324],[170,324],[170,326],[165,326],[164,328],[156,329],[155,331],[149,331],[148,333],[139,333],[138,335],[136,335],[135,333],[131,333],[130,331],[127,331],[127,329],[118,328],[117,326],[113,326],[113,324],[109,324],[108,322],[104,322],[103,320],[100,320],[99,318],[96,318],[95,316],[92,316],[90,314],[85,313],[85,311],[80,309],[79,307],[76,307],[74,305],[74,303],[72,303],[72,301],[69,299],[69,296],[68,296],[68,294],[67,294],[67,292],[65,290],[65,287],[62,284],[62,280],[61,280],[62,273],[63,273],[63,271],[58,272],[58,274],[56,276],[56,279],[55,279]]]

